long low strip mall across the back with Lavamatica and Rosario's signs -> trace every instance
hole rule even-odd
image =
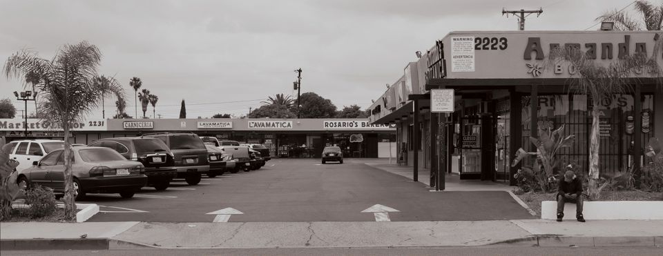
[[[0,136],[24,139],[23,119],[0,119]],[[29,139],[63,139],[64,132],[28,119]],[[320,157],[323,148],[340,146],[344,157],[395,157],[396,128],[367,119],[88,119],[72,124],[70,143],[135,137],[150,132],[194,132],[200,136],[264,144],[273,157]]]

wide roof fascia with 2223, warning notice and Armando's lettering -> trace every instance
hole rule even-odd
[[[472,38],[473,48],[459,43]],[[557,48],[580,50],[599,66],[608,66],[628,55],[645,55],[663,66],[661,40],[660,31],[497,31],[451,32],[442,41],[443,56],[452,64],[446,70],[448,79],[531,79],[568,78],[577,73],[568,61],[548,63],[550,52]],[[642,68],[631,76],[652,74]]]

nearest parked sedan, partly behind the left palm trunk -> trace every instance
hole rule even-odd
[[[76,199],[86,193],[119,193],[131,198],[147,183],[144,166],[129,161],[110,148],[78,146],[72,148],[71,170]],[[32,167],[19,172],[19,183],[40,184],[64,193],[64,150],[54,150]]]

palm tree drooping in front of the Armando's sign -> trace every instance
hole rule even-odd
[[[577,72],[572,76],[570,88],[575,93],[588,95],[592,98],[592,128],[590,130],[589,146],[589,186],[590,199],[598,199],[601,188],[599,181],[599,105],[604,99],[611,99],[616,94],[631,92],[633,83],[640,83],[633,74],[639,70],[646,70],[657,86],[661,86],[663,78],[656,57],[660,55],[658,49],[663,47],[663,41],[657,41],[655,50],[651,57],[644,54],[627,55],[624,59],[617,59],[607,66],[597,64],[595,59],[590,59],[585,52],[577,48],[558,48],[550,52],[550,58],[546,66],[554,66],[555,63],[566,62],[576,67]],[[634,81],[635,80],[635,81]],[[635,104],[640,104],[637,99]]]

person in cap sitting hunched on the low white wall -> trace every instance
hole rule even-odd
[[[585,222],[582,216],[582,182],[575,177],[573,170],[567,170],[564,173],[564,179],[559,180],[559,189],[557,192],[557,221],[564,218],[564,203],[577,204],[575,217],[580,222]]]

